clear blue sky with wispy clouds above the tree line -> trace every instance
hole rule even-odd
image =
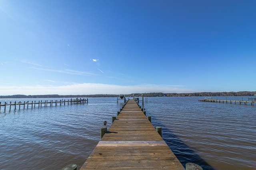
[[[0,0],[0,95],[256,91],[255,0]]]

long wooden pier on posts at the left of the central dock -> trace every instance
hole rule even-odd
[[[66,105],[66,104],[79,104],[79,103],[88,103],[88,98],[87,99],[81,99],[81,98],[76,98],[76,99],[70,99],[70,100],[50,100],[50,101],[48,101],[48,100],[45,100],[45,101],[38,101],[38,102],[36,102],[36,101],[32,101],[32,102],[29,102],[29,101],[27,101],[27,102],[14,102],[14,103],[12,103],[12,102],[10,102],[9,104],[7,103],[7,102],[4,102],[4,104],[2,104],[1,102],[0,102],[0,111],[1,111],[1,107],[4,107],[4,111],[6,111],[6,108],[7,107],[9,107],[9,110],[11,110],[11,108],[12,107],[14,107],[14,110],[16,110],[17,108],[18,109],[20,109],[20,108],[23,108],[23,109],[25,109],[25,108],[28,108],[29,106],[31,107],[31,108],[33,108],[33,107],[42,107],[42,106],[44,106],[44,107],[47,107],[47,106],[61,106],[61,105]]]

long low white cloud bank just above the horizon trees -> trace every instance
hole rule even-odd
[[[41,94],[132,94],[132,93],[189,93],[191,89],[177,88],[168,85],[145,84],[122,86],[115,84],[74,83],[63,86],[0,86],[1,95],[41,95]]]

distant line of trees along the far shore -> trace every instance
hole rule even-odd
[[[178,96],[254,96],[256,92],[196,92],[196,93],[135,93],[134,96],[144,97],[178,97]],[[94,98],[94,97],[117,97],[117,94],[91,94],[91,95],[11,95],[11,96],[0,96],[0,98]],[[126,97],[133,96],[133,94],[125,94]]]

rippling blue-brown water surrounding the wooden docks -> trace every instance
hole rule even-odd
[[[204,170],[256,170],[256,106],[198,102],[201,98],[148,98],[144,107],[184,166],[194,162]],[[28,100],[62,99],[0,102]],[[0,169],[58,170],[71,163],[79,169],[100,140],[103,121],[109,127],[122,106],[119,102],[89,98],[88,104],[69,106],[8,107],[5,112],[1,107]]]

